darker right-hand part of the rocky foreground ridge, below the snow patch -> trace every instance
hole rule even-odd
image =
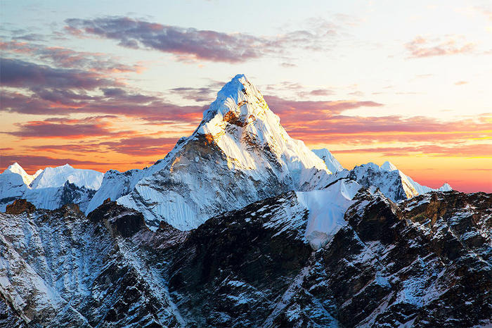
[[[280,208],[288,213],[295,201],[283,197],[288,201]],[[432,206],[413,207],[432,197],[437,197]],[[252,205],[190,232],[176,250],[176,256],[188,256],[171,267],[169,289],[183,317],[198,326],[490,324],[491,199],[434,193],[397,206],[382,194],[361,191],[347,210],[349,224],[312,252],[278,223],[283,215],[271,198],[256,203],[268,209],[259,217],[252,216],[257,211]],[[422,216],[439,217],[429,233],[415,219]],[[266,229],[258,219],[277,225]],[[449,225],[465,233],[458,236]],[[279,242],[291,260],[271,248]],[[286,263],[291,265],[283,270]]]

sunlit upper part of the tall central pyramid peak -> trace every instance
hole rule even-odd
[[[303,168],[327,170],[304,142],[289,137],[280,118],[245,75],[236,75],[217,93],[195,134],[219,146],[232,167],[254,170],[264,165],[261,162],[267,156],[289,173]]]

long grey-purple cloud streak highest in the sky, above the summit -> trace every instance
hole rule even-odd
[[[66,30],[76,36],[96,35],[114,39],[131,49],[153,49],[176,55],[178,60],[240,63],[268,54],[285,54],[292,47],[319,51],[325,39],[336,34],[324,20],[316,28],[294,30],[273,37],[245,33],[224,33],[151,23],[129,17],[109,16],[95,19],[70,18]]]

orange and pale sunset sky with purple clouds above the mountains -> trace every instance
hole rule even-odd
[[[491,1],[0,0],[0,172],[143,168],[221,86],[344,165],[492,192]]]

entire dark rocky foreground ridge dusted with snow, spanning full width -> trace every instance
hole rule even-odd
[[[0,326],[491,324],[491,194],[354,200],[318,251],[294,192],[188,232],[151,232],[115,202],[89,219],[70,206],[0,213]]]

